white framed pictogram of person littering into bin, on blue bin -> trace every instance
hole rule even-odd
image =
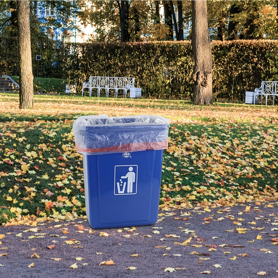
[[[138,165],[116,165],[114,195],[137,193]]]

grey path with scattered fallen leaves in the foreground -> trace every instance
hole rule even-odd
[[[204,209],[160,210],[159,222],[136,226],[137,230],[95,230],[84,219],[1,227],[5,237],[0,245],[4,254],[0,256],[0,277],[261,277],[258,272],[265,272],[262,277],[278,277],[278,245],[273,244],[278,234],[277,202]],[[204,220],[208,217],[211,219]],[[246,233],[240,234],[237,228]],[[24,232],[28,229],[35,230]],[[108,236],[100,236],[101,232]],[[21,237],[16,236],[20,233]],[[190,237],[187,245],[175,244]],[[49,245],[55,247],[48,249]],[[190,254],[194,251],[198,254]],[[82,259],[76,260],[78,257]],[[110,259],[115,264],[99,265]],[[75,263],[77,268],[70,268]],[[168,267],[175,271],[165,272]],[[210,274],[201,274],[203,271]]]

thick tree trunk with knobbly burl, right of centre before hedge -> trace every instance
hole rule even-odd
[[[193,103],[212,103],[212,54],[207,21],[207,1],[191,1]]]

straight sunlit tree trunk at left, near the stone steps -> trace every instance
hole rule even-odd
[[[33,73],[29,1],[16,1],[18,11],[19,108],[33,108]]]

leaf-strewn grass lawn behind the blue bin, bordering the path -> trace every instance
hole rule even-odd
[[[169,118],[161,207],[277,200],[277,106],[61,95],[34,102],[19,110],[18,94],[0,94],[1,223],[86,215],[72,125],[88,114]]]

